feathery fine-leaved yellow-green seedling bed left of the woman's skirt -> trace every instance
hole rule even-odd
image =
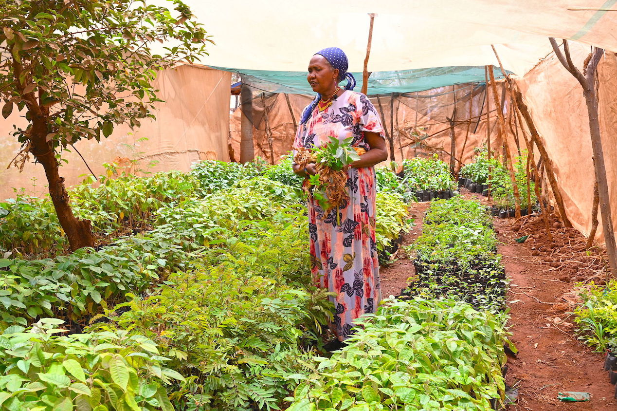
[[[159,343],[172,367],[192,376],[183,393],[204,409],[278,409],[305,378],[299,373],[309,367],[309,355],[298,343],[316,319],[325,323],[331,309],[325,292],[290,288],[233,261],[173,273],[168,283],[123,304],[131,310],[114,318],[115,325]]]

